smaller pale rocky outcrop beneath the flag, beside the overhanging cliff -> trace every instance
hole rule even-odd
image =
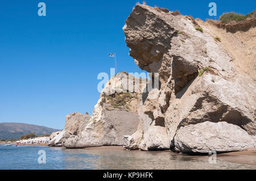
[[[146,79],[145,83],[146,83]],[[92,116],[81,131],[70,131],[71,136],[62,142],[66,148],[86,148],[106,145],[122,145],[122,137],[137,131],[139,123],[150,120],[141,110],[142,89],[135,82],[143,82],[127,73],[112,77],[102,90]],[[84,118],[82,118],[84,119]],[[72,120],[72,119],[68,119]],[[77,118],[70,125],[80,124]],[[67,124],[67,119],[66,119]],[[65,130],[66,126],[65,126]],[[77,132],[77,134],[73,134]]]

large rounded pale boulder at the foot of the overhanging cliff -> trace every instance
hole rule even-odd
[[[245,130],[225,121],[181,127],[174,140],[176,148],[184,153],[241,151],[254,145],[253,138]]]

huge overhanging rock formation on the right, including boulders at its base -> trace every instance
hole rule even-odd
[[[160,86],[143,95],[142,109],[152,119],[151,127],[163,129],[147,133],[141,123],[138,133],[123,138],[125,148],[162,149],[167,148],[166,140],[172,149],[185,153],[254,146],[255,81],[238,71],[234,58],[200,20],[137,5],[123,31],[135,63],[159,73]],[[207,133],[207,125],[216,133]],[[166,133],[168,139],[155,140]]]

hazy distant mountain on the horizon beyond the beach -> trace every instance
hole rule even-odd
[[[51,134],[59,129],[25,123],[0,123],[0,140],[20,138],[22,134],[35,133],[36,135]]]

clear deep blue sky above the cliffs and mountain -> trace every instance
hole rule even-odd
[[[37,14],[39,2],[45,17]],[[62,129],[68,113],[91,114],[97,75],[114,68],[109,53],[117,53],[118,71],[136,70],[122,31],[136,2],[1,0],[0,122]],[[256,7],[255,0],[146,2],[203,20],[211,18],[209,2],[217,3],[218,16]]]

